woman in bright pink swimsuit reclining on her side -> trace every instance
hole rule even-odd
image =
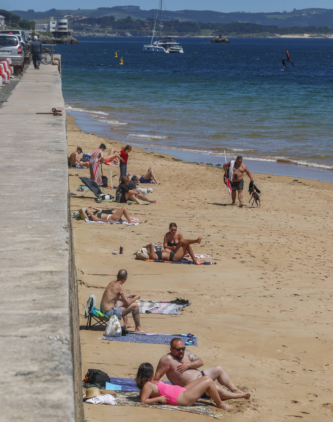
[[[192,406],[205,391],[215,401],[218,409],[226,408],[218,395],[214,381],[209,376],[196,379],[184,387],[166,384],[163,381],[153,381],[154,368],[150,363],[142,363],[137,370],[135,384],[140,389],[141,403],[173,404],[175,406]]]

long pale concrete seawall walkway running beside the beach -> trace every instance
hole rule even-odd
[[[62,116],[36,114],[52,107]],[[0,135],[0,419],[83,421],[58,66],[31,63],[0,108]]]

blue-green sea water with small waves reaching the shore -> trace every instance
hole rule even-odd
[[[183,160],[223,164],[225,150],[253,172],[333,181],[333,39],[177,38],[184,54],[144,53],[148,37],[78,39],[56,53],[82,130]],[[282,68],[285,49],[295,68]]]

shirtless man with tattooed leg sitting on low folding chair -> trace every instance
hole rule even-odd
[[[127,314],[132,312],[137,333],[148,333],[140,325],[139,305],[135,302],[140,299],[140,295],[126,295],[123,284],[127,280],[127,271],[120,270],[117,274],[117,280],[111,281],[105,289],[99,309],[108,317],[116,315],[123,317],[124,328],[134,327],[127,322]],[[118,302],[117,302],[118,301]]]

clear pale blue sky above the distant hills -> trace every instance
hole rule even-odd
[[[45,0],[2,0],[0,9],[5,10],[24,10],[34,9],[37,11],[46,11],[51,8],[72,10],[72,9],[93,9],[97,7],[113,7],[135,5],[140,6],[142,10],[158,8],[159,0],[58,0],[56,3],[45,2]],[[221,2],[220,0],[162,0],[164,10],[212,10],[217,12],[290,12],[294,8],[332,8],[332,0],[233,0],[231,2]]]

